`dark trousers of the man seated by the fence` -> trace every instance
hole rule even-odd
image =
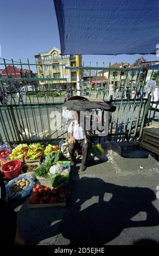
[[[69,144],[69,155],[71,161],[75,162],[74,152],[76,149],[82,149],[82,166],[86,166],[87,154],[88,154],[89,144],[85,144],[84,139],[76,139],[75,143]]]

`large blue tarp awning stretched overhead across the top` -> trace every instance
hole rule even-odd
[[[159,1],[54,0],[61,54],[156,54]]]

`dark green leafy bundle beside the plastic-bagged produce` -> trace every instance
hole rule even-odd
[[[56,161],[59,160],[59,157],[60,157],[60,153],[58,153],[58,152],[49,153],[46,156],[44,166],[43,167],[38,167],[34,170],[36,175],[37,176],[42,176],[43,174],[48,173],[50,167],[52,167],[56,163]]]

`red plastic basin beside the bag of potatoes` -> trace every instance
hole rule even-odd
[[[15,167],[17,164],[18,164],[18,167],[15,170],[7,170],[7,167],[9,165]],[[2,171],[4,172],[5,177],[7,177],[8,179],[14,179],[20,174],[21,168],[22,168],[22,162],[19,160],[13,160],[5,163],[4,166],[2,167]]]

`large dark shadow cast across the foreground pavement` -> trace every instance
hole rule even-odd
[[[118,186],[99,178],[82,177],[72,184],[67,209],[29,210],[23,209],[23,205],[18,215],[23,236],[30,244],[48,239],[54,245],[66,245],[66,241],[71,245],[104,245],[125,228],[158,225],[159,213],[152,204],[155,199],[149,188]],[[134,216],[138,220],[132,221]],[[67,240],[61,236],[58,240],[58,234]]]

